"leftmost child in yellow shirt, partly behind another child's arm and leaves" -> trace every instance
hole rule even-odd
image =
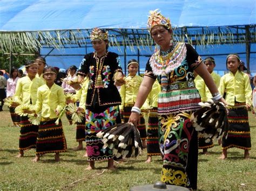
[[[37,63],[28,61],[25,63],[25,68],[28,75],[18,79],[14,101],[17,103],[35,105],[37,89],[42,86],[44,82],[36,77]],[[18,104],[13,104],[12,107],[16,107],[17,105]],[[19,126],[21,127],[21,131],[19,135],[19,154],[17,157],[23,157],[25,150],[36,148],[38,125],[31,124],[28,120],[28,116],[22,116]]]

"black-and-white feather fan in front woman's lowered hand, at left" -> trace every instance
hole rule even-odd
[[[113,150],[116,158],[130,158],[142,151],[142,141],[139,131],[132,123],[119,123],[97,133],[98,138],[103,138],[104,148]]]

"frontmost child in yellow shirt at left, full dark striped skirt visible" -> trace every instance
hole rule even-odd
[[[65,106],[65,94],[61,87],[54,83],[56,70],[46,67],[43,77],[46,82],[37,90],[37,102],[35,112],[41,112],[42,119],[39,125],[36,142],[36,157],[33,161],[40,159],[40,154],[55,153],[55,160],[59,161],[59,153],[66,151],[66,139],[62,128],[62,122],[55,124],[59,112]]]

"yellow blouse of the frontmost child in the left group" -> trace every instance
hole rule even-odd
[[[37,90],[37,102],[35,111],[42,111],[42,117],[54,119],[58,116],[55,110],[61,110],[65,106],[65,94],[63,89],[57,84],[49,88],[46,84]]]

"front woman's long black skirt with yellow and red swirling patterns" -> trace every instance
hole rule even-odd
[[[160,151],[164,156],[161,181],[197,189],[198,133],[190,114],[161,115]]]

